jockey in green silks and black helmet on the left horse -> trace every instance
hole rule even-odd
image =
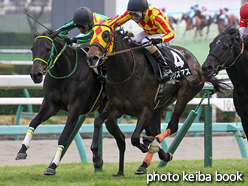
[[[101,15],[101,14],[95,14],[96,20],[103,20],[108,19],[108,17]],[[94,27],[94,20],[93,14],[91,10],[87,7],[79,7],[73,14],[73,19],[66,23],[65,25],[58,28],[56,31],[60,30],[60,34],[67,35],[68,32],[74,28],[78,28],[78,30],[82,33],[78,36],[72,37],[72,38],[64,38],[64,41],[68,45],[72,45],[73,43],[85,43],[87,46],[89,46],[90,41],[90,33]],[[101,67],[94,68],[94,71],[99,76],[97,79],[103,83],[105,81],[106,76],[106,64],[103,63]]]

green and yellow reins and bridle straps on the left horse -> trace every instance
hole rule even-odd
[[[58,53],[58,51],[57,51],[57,49],[56,49],[56,46],[55,46],[55,44],[54,44],[52,38],[50,38],[50,37],[48,37],[48,36],[37,36],[37,37],[35,38],[35,40],[36,40],[36,39],[39,39],[39,38],[46,38],[46,39],[48,39],[49,41],[51,41],[51,43],[52,43],[51,53],[50,53],[50,56],[49,56],[49,58],[48,58],[47,61],[44,60],[44,59],[41,59],[41,58],[35,58],[35,59],[33,59],[33,63],[34,63],[35,61],[41,61],[41,62],[45,63],[45,64],[47,65],[46,71],[48,71],[49,75],[50,75],[51,77],[55,78],[55,79],[65,79],[65,78],[70,77],[72,74],[74,74],[74,72],[75,72],[76,69],[77,69],[77,60],[78,60],[77,50],[74,48],[75,53],[76,53],[76,63],[75,63],[75,66],[74,66],[72,72],[71,72],[70,74],[68,74],[68,75],[61,76],[61,77],[57,77],[57,76],[52,75],[51,72],[50,72],[50,70],[55,66],[55,63],[57,62],[57,60],[58,60],[58,58],[60,57],[60,55],[65,51],[65,49],[66,49],[66,47],[67,47],[67,43],[65,43],[64,47],[63,47],[63,48],[61,49],[61,51]],[[58,53],[58,55],[57,55],[56,57],[55,57],[55,55],[54,55],[54,52],[55,52],[55,53]],[[55,59],[54,59],[54,57],[55,57]],[[54,61],[53,61],[53,59],[54,59]]]

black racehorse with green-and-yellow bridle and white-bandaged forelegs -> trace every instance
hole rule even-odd
[[[59,110],[67,111],[68,118],[58,140],[58,150],[51,165],[44,172],[45,175],[56,173],[55,169],[59,165],[61,152],[67,145],[79,116],[92,113],[99,107],[101,111],[106,103],[106,96],[103,98],[104,94],[101,94],[103,85],[97,81],[96,74],[89,68],[86,54],[79,48],[66,46],[63,41],[56,38],[57,35],[58,32],[50,35],[45,33],[39,35],[37,32],[34,34],[35,41],[31,49],[34,63],[30,75],[34,83],[40,83],[43,80],[43,74],[47,72],[43,86],[44,100],[38,114],[29,125],[22,148],[16,157],[17,160],[26,159],[26,151],[30,146],[33,133],[42,122]],[[103,104],[99,105],[99,100]],[[106,125],[110,133],[113,133],[112,130],[118,130],[116,121],[109,120]],[[122,136],[117,138],[118,142],[121,141],[125,145]],[[120,145],[122,149],[124,145]]]

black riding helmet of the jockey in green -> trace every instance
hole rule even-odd
[[[93,21],[93,14],[87,7],[79,7],[73,14],[74,25],[89,25]]]

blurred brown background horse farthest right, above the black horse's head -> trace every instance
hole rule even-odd
[[[239,26],[239,20],[235,15],[231,14],[226,16],[227,24],[225,24],[225,21],[223,19],[220,19],[220,15],[221,14],[217,15],[217,22],[216,22],[218,25],[219,33],[223,32],[223,30],[228,26],[233,26],[234,28],[237,28]]]

